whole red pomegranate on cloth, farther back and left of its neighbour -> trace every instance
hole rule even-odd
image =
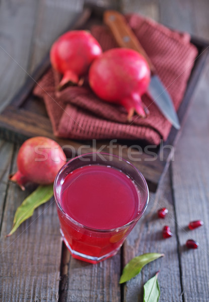
[[[85,30],[74,30],[61,35],[50,50],[51,65],[63,74],[59,89],[68,83],[79,84],[92,61],[102,53],[97,40]]]

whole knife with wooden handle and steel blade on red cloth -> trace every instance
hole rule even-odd
[[[131,28],[127,25],[123,15],[117,11],[108,10],[104,12],[103,21],[111,30],[117,44],[120,47],[136,50],[147,60],[151,70],[151,81],[148,88],[148,94],[154,100],[163,115],[171,122],[171,124],[176,129],[180,129],[178,116],[176,114],[172,99],[168,94],[167,89],[159,79],[155,66],[136,38],[135,34],[132,32]]]

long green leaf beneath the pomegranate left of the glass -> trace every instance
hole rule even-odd
[[[17,208],[13,220],[13,228],[7,235],[11,236],[18,229],[20,224],[33,215],[34,210],[41,204],[48,201],[53,196],[53,184],[38,186],[22,204]]]

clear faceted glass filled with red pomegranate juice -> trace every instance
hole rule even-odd
[[[91,153],[67,162],[54,181],[63,240],[74,258],[97,263],[117,253],[145,212],[143,175],[111,154]]]

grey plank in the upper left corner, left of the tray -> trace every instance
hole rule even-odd
[[[0,111],[24,83],[36,15],[36,1],[0,4]]]

